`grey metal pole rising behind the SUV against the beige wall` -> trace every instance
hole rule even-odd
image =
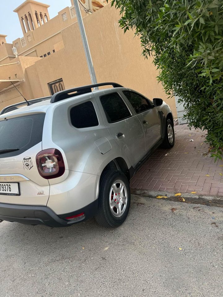
[[[74,7],[76,10],[77,21],[78,21],[78,25],[79,25],[79,29],[80,29],[80,33],[81,33],[81,39],[82,39],[84,50],[85,50],[85,56],[86,56],[86,60],[87,60],[87,64],[88,64],[90,78],[91,78],[92,84],[97,84],[97,79],[96,79],[96,75],[95,75],[95,71],[94,71],[94,66],[93,66],[93,62],[92,62],[92,58],[91,58],[91,54],[90,54],[89,44],[87,41],[87,36],[86,36],[84,23],[83,23],[83,19],[82,19],[82,15],[81,15],[81,9],[80,9],[78,0],[74,0]],[[98,89],[98,88],[95,88],[95,89]]]

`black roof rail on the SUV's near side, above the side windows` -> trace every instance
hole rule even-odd
[[[52,96],[50,103],[55,103],[55,102],[68,99],[70,97],[78,96],[81,94],[91,93],[92,92],[91,89],[95,87],[110,86],[110,85],[113,86],[113,88],[124,88],[120,84],[116,84],[116,83],[90,84],[83,87],[72,88],[72,89],[67,89],[64,91],[57,92]],[[69,93],[73,93],[73,92],[77,92],[77,93],[69,95]]]

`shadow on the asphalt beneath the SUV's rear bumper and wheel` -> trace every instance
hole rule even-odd
[[[66,248],[64,244],[75,244],[78,248],[84,248],[89,241],[97,242],[97,239],[107,238],[112,234],[121,232],[121,229],[128,228],[128,224],[133,220],[136,208],[140,202],[136,202],[137,198],[131,200],[129,216],[125,223],[119,228],[104,228],[91,218],[85,222],[74,224],[70,227],[53,228],[42,225],[30,226],[16,222],[2,222],[0,228],[4,227],[4,237],[7,242],[16,248],[29,248],[30,250],[44,249],[45,253],[51,252],[52,246],[55,248]],[[138,200],[137,200],[138,201]],[[141,204],[142,206],[142,204]],[[2,228],[1,228],[2,229]]]

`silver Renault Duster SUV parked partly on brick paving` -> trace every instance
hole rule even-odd
[[[174,145],[169,106],[119,84],[21,105],[0,114],[1,221],[64,227],[95,217],[120,226],[130,179],[160,144]]]

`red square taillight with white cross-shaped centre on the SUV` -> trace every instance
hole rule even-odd
[[[44,179],[54,179],[64,174],[63,156],[58,149],[45,149],[36,156],[39,174]]]

